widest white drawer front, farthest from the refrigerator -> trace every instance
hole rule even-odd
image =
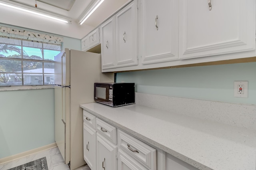
[[[117,131],[118,146],[150,170],[156,170],[156,150],[122,130]]]

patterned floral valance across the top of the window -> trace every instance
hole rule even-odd
[[[0,37],[61,45],[63,37],[0,26]]]

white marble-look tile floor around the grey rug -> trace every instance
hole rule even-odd
[[[13,160],[10,162],[6,162],[4,164],[0,164],[0,170],[8,170],[10,168],[14,168],[16,166],[25,164],[27,162],[37,160],[44,156],[46,157],[48,170],[70,170],[68,165],[64,164],[64,160],[60,154],[60,150],[58,149],[58,147],[44,150],[36,154],[31,154],[29,156],[26,156],[17,160]],[[91,170],[91,169],[88,167],[88,165],[84,165],[77,168],[76,170]]]

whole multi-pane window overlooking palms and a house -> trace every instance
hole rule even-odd
[[[60,45],[0,38],[0,86],[54,84]]]

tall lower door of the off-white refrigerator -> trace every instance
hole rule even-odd
[[[70,88],[54,86],[54,103],[55,142],[65,163],[68,164],[70,161]]]

